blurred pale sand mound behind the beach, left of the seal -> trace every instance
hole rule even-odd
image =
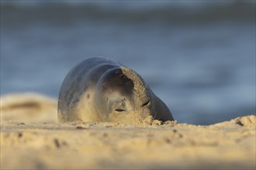
[[[0,98],[1,121],[57,123],[57,100],[39,93],[12,93]]]

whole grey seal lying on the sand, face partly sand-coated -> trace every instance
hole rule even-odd
[[[174,121],[171,111],[135,71],[105,57],[85,59],[61,86],[58,121]]]

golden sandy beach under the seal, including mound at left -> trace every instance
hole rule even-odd
[[[256,168],[256,117],[200,126],[57,123],[57,100],[1,97],[1,169]]]

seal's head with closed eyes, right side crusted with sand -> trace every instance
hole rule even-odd
[[[108,70],[97,85],[95,104],[103,120],[131,123],[157,116],[154,93],[126,66]],[[136,122],[137,123],[137,122]]]

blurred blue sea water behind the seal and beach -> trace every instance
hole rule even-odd
[[[1,2],[1,95],[57,98],[90,56],[136,70],[179,123],[255,114],[254,2]]]

